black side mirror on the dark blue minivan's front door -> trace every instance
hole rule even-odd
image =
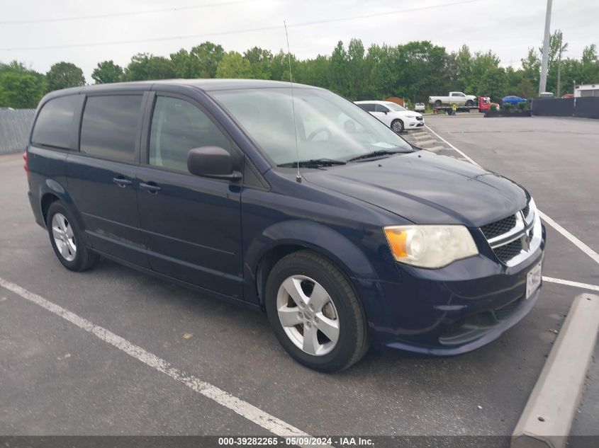
[[[240,180],[239,171],[233,170],[233,157],[221,147],[201,147],[187,153],[187,169],[195,176]]]

